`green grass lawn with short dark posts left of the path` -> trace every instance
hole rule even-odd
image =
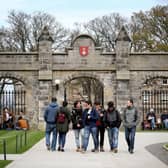
[[[26,139],[25,139],[26,135]],[[16,138],[17,137],[17,138]],[[20,154],[44,137],[43,131],[16,131],[16,130],[0,130],[0,154],[3,154],[3,140],[6,140],[6,153],[7,154]],[[17,145],[16,145],[17,140]],[[26,141],[25,141],[26,140]],[[17,146],[17,149],[16,149]],[[8,155],[7,155],[8,158]],[[5,168],[11,160],[0,160],[0,168]]]

